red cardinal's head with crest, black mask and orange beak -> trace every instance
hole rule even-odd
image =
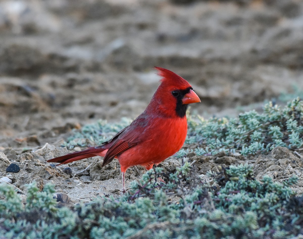
[[[201,102],[191,85],[181,76],[161,67],[155,67],[155,69],[161,76],[161,84],[151,103],[157,102],[157,108],[162,113],[185,117],[188,104]]]

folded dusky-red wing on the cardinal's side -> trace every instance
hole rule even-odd
[[[105,143],[112,143],[103,159],[102,167],[109,164],[116,155],[134,147],[144,139],[144,131],[148,125],[148,119],[144,114],[138,116],[129,126],[120,131],[111,140]]]

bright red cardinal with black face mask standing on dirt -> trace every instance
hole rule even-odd
[[[161,84],[145,111],[112,139],[97,147],[73,152],[48,162],[67,164],[84,158],[104,156],[102,167],[118,158],[122,172],[122,192],[125,193],[124,174],[134,165],[147,170],[175,154],[184,144],[187,134],[188,104],[201,102],[191,85],[167,69],[155,67]],[[60,165],[58,164],[58,165]]]

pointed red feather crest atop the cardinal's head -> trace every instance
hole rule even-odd
[[[154,68],[158,71],[158,75],[162,78],[160,80],[161,84],[175,86],[179,89],[188,88],[191,86],[185,79],[170,70],[156,66]]]

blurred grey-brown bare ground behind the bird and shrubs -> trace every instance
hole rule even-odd
[[[303,95],[303,1],[2,0],[1,147],[135,118],[153,66],[188,80],[205,117],[283,104]]]

